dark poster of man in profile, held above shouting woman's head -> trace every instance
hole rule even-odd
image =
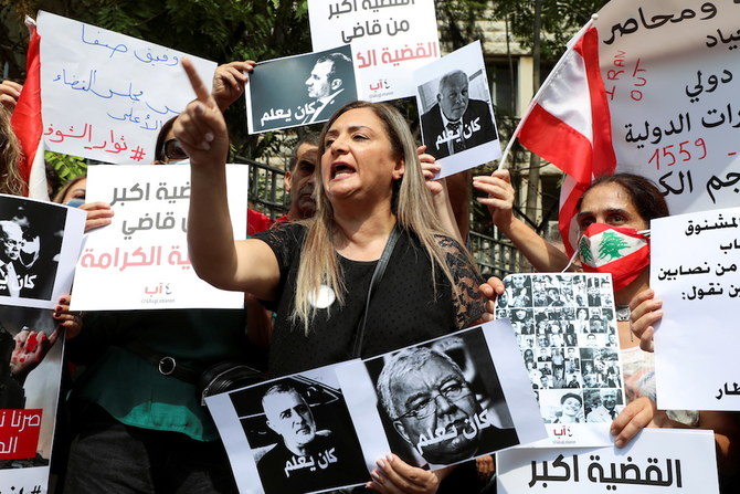
[[[260,62],[246,85],[250,134],[319,124],[357,101],[349,45]]]

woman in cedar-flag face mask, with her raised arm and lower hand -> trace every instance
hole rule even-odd
[[[478,201],[488,206],[494,222],[525,254],[538,271],[562,271],[569,265],[565,253],[548,243],[511,211],[514,188],[507,170],[489,177],[475,177],[476,189],[488,195]],[[578,203],[581,266],[585,272],[611,273],[614,302],[617,307],[617,333],[628,404],[614,419],[611,433],[615,444],[624,446],[642,428],[713,429],[720,471],[736,469],[731,439],[738,434],[734,420],[723,412],[664,411],[655,403],[653,356],[639,349],[639,341],[630,332],[630,303],[648,288],[649,221],[668,216],[668,208],[655,185],[631,174],[616,174],[595,180]],[[600,240],[614,256],[606,262],[599,257]],[[628,249],[624,246],[628,246]]]

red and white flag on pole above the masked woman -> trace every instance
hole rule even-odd
[[[586,24],[571,40],[517,130],[515,136],[527,149],[567,174],[560,191],[560,234],[572,255],[578,200],[594,177],[616,169],[596,28]]]

